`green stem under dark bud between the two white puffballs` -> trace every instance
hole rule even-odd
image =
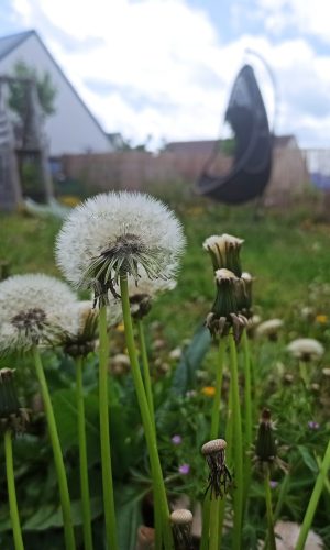
[[[88,461],[86,447],[85,404],[82,388],[82,356],[76,362],[76,391],[77,391],[77,415],[78,415],[78,441],[79,441],[79,465],[80,465],[80,491],[82,507],[82,526],[85,550],[92,550],[90,497],[88,483]]]

